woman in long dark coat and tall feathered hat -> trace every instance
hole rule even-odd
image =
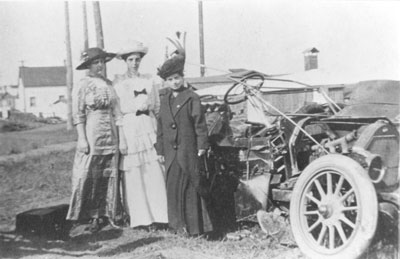
[[[165,159],[169,226],[178,233],[212,231],[204,199],[199,195],[199,157],[208,148],[207,124],[200,98],[184,82],[185,53],[167,60],[158,75],[170,88],[161,97],[156,149]]]

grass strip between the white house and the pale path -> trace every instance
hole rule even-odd
[[[38,149],[47,145],[77,140],[76,130],[67,130],[65,123],[40,128],[0,133],[0,156]]]

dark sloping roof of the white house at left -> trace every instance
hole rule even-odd
[[[66,67],[20,67],[19,78],[25,87],[66,86]]]

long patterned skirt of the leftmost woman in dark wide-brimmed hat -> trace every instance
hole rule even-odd
[[[68,220],[114,219],[119,204],[118,156],[76,152]]]

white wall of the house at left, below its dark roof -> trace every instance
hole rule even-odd
[[[60,99],[61,96],[67,97],[66,86],[43,86],[43,87],[25,87],[25,107],[26,112],[35,114],[36,116],[42,115],[43,117],[52,117],[55,115],[54,102]],[[63,109],[56,109],[57,115],[66,118],[61,114]]]

